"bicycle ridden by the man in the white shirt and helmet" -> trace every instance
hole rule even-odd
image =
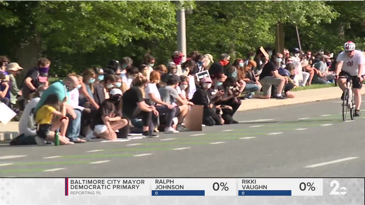
[[[355,100],[354,100],[354,94],[352,92],[351,77],[338,77],[338,78],[346,78],[346,89],[343,91],[342,119],[343,119],[343,121],[346,121],[347,115],[348,115],[349,110],[350,110],[351,120],[354,120],[355,119],[354,114],[355,114],[356,105],[355,105]]]

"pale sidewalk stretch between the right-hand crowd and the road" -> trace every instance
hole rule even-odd
[[[338,87],[331,88],[319,88],[296,91],[296,98],[288,98],[285,100],[273,99],[249,99],[242,100],[242,105],[238,108],[238,111],[245,111],[251,109],[268,108],[280,105],[299,104],[304,102],[314,102],[320,100],[329,100],[338,98],[341,100],[342,91]],[[361,94],[365,94],[365,89],[361,90]]]

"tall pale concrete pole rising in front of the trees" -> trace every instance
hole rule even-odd
[[[181,51],[185,57],[183,61],[186,60],[186,26],[185,26],[185,9],[181,8],[176,12],[177,20],[177,50]]]

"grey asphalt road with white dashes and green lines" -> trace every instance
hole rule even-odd
[[[364,177],[365,111],[348,122],[341,111],[328,100],[242,111],[240,124],[154,139],[0,146],[0,177]]]

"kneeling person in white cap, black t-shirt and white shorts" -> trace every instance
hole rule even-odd
[[[127,138],[128,120],[122,117],[122,90],[114,88],[110,91],[110,98],[101,103],[96,113],[94,134],[107,140]],[[116,130],[118,132],[115,132]]]

